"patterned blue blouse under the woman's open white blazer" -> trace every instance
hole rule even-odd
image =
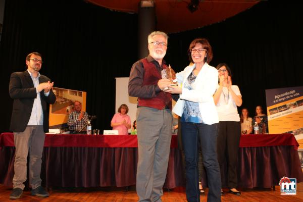
[[[183,88],[187,88],[189,90],[193,89],[193,84],[196,77],[197,76],[195,76],[192,71],[185,80]],[[200,114],[199,103],[185,100],[181,121],[191,123],[204,123]]]

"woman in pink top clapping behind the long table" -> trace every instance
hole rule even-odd
[[[116,113],[111,121],[111,126],[113,130],[118,130],[119,135],[128,135],[128,129],[131,127],[130,117],[127,115],[128,107],[122,104],[118,113]]]

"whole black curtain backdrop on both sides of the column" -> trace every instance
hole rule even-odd
[[[253,116],[257,105],[266,112],[265,89],[303,85],[302,20],[294,1],[262,1],[223,22],[169,34],[165,59],[176,72],[181,71],[189,63],[191,40],[208,38],[214,50],[210,64],[230,66],[233,84],[242,93],[242,107]],[[6,1],[0,47],[0,132],[9,130],[10,74],[24,71],[25,56],[33,51],[42,54],[41,73],[52,78],[55,86],[87,92],[87,112],[98,117],[94,126],[109,129],[115,113],[115,77],[128,77],[137,60],[137,15],[81,0]]]

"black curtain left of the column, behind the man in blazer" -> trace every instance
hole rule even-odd
[[[110,129],[115,114],[115,77],[128,77],[137,60],[137,15],[114,12],[81,0],[6,1],[0,49],[4,113],[8,131],[12,72],[25,71],[28,53],[42,54],[40,73],[55,87],[87,92],[94,128]]]

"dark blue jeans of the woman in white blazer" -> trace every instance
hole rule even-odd
[[[181,122],[182,144],[185,155],[186,198],[200,201],[198,179],[198,139],[200,139],[203,164],[208,178],[207,201],[221,201],[221,176],[217,158],[218,124]]]

